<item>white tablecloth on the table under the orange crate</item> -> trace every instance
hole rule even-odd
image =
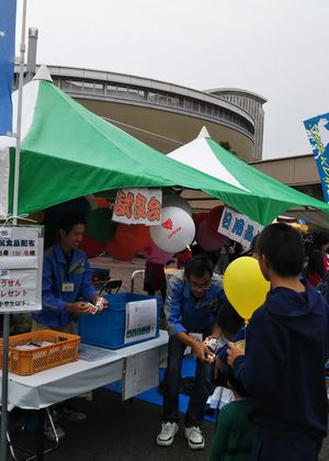
[[[167,357],[167,342],[168,334],[161,330],[159,338],[113,350],[111,356],[92,362],[78,360],[31,376],[9,373],[9,408],[44,408],[118,381],[122,379],[124,359],[147,350],[158,348],[161,363]]]

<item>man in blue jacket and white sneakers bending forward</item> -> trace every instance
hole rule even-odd
[[[213,274],[213,266],[206,255],[197,255],[188,261],[185,270],[178,271],[168,283],[164,304],[169,331],[168,366],[163,389],[162,427],[157,437],[159,446],[170,446],[179,429],[179,384],[184,350],[189,346],[197,360],[195,385],[185,415],[184,434],[192,449],[204,448],[200,424],[211,393],[212,353],[203,342],[190,334],[202,334],[203,339],[207,336],[218,337],[216,317],[224,300],[222,279]]]

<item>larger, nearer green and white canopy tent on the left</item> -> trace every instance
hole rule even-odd
[[[18,92],[13,94],[15,131]],[[12,212],[15,139],[0,137],[0,216]],[[90,193],[131,187],[243,191],[181,165],[84,109],[53,85],[46,67],[23,87],[19,215]],[[258,200],[254,198],[254,200]]]

